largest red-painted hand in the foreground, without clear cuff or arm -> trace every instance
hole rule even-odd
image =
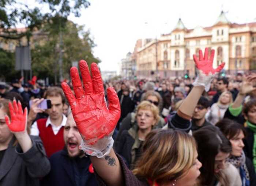
[[[70,69],[75,96],[67,83],[61,84],[71,106],[78,130],[87,144],[94,144],[104,136],[110,136],[120,118],[120,103],[114,88],[108,88],[109,108],[106,105],[101,73],[96,63],[91,64],[90,76],[86,61],[79,62],[83,87],[78,69]]]

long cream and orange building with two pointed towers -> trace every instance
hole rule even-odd
[[[226,73],[256,70],[256,22],[230,23],[222,11],[213,26],[188,30],[179,19],[170,34],[138,49],[136,74],[139,78],[179,77],[186,73],[193,77],[193,54],[198,56],[199,50],[206,47],[215,50],[214,68],[225,62]]]

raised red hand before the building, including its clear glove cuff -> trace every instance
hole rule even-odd
[[[202,50],[199,50],[199,60],[197,59],[196,55],[193,55],[196,69],[197,69],[197,77],[195,82],[193,83],[194,86],[204,86],[206,92],[210,89],[211,81],[214,77],[215,73],[218,73],[223,69],[225,63],[222,62],[221,65],[214,69],[212,67],[213,59],[214,59],[214,50],[211,50],[210,59],[208,57],[208,48],[204,51],[204,57]]]

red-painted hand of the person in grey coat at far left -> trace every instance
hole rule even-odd
[[[11,132],[25,132],[27,126],[27,108],[25,108],[24,113],[22,111],[22,106],[20,101],[18,101],[18,106],[16,100],[13,101],[13,107],[11,102],[9,102],[9,110],[11,115],[11,122],[8,116],[5,116],[5,122],[9,127]]]

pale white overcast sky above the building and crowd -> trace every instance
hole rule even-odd
[[[22,0],[31,3],[34,0]],[[89,0],[90,7],[73,22],[90,29],[101,59],[101,70],[117,70],[117,63],[133,51],[139,38],[169,33],[181,18],[191,29],[212,26],[221,10],[230,22],[256,22],[255,0]],[[148,24],[145,24],[147,22]]]

